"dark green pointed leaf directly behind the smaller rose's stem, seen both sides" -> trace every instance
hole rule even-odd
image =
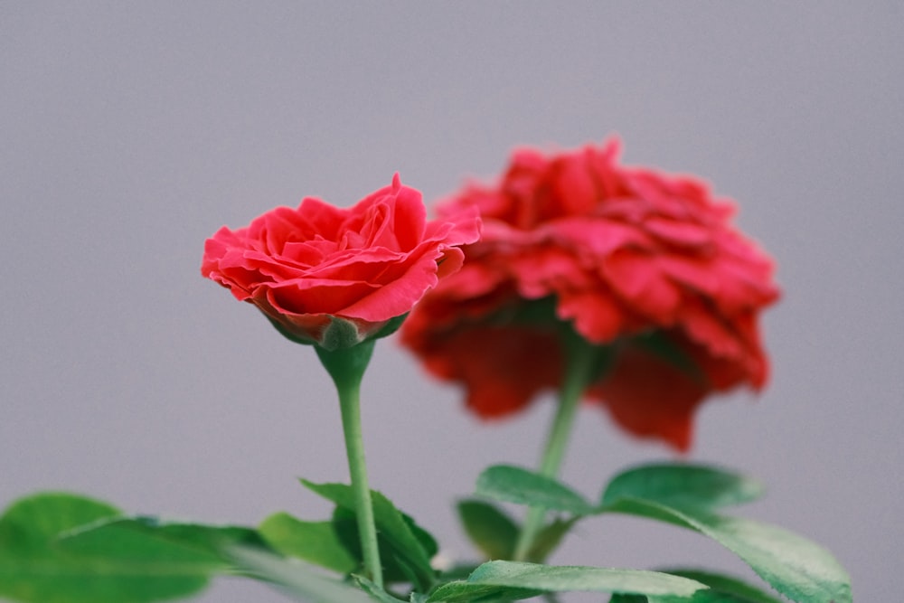
[[[313,484],[306,480],[302,480],[302,484],[345,511],[355,512],[352,486]],[[430,566],[430,557],[436,553],[436,541],[410,517],[401,513],[386,496],[376,490],[372,490],[371,494],[378,541],[385,542],[391,548],[394,560],[410,574],[407,579],[422,589],[429,588],[436,577],[436,571]]]

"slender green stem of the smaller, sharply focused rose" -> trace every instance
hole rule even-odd
[[[361,430],[361,382],[367,363],[371,360],[375,340],[365,341],[350,348],[334,351],[315,346],[320,362],[333,377],[339,394],[342,427],[345,436],[345,453],[352,477],[355,516],[361,537],[364,570],[380,589],[383,574],[380,550],[377,547],[377,530],[373,521],[371,488],[367,483],[367,466],[364,463],[364,442]]]

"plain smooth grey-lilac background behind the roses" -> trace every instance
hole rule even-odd
[[[747,513],[899,598],[904,11],[898,3],[0,3],[0,503],[66,488],[129,511],[325,516],[344,480],[310,349],[199,274],[203,241],[305,195],[427,199],[517,144],[623,137],[701,174],[778,261],[775,371],[712,401],[691,458],[770,488]],[[372,485],[471,554],[451,502],[533,465],[550,417],[485,426],[394,340],[366,382]],[[565,479],[671,457],[585,410]],[[554,561],[744,567],[690,533],[585,523]],[[589,598],[588,600],[598,600]],[[279,601],[218,580],[207,601]]]

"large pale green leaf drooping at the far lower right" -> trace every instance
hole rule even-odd
[[[850,603],[851,579],[823,547],[767,523],[699,509],[676,509],[639,498],[621,498],[604,512],[673,523],[709,536],[737,554],[779,593],[798,603]]]

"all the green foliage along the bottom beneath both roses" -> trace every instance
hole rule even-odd
[[[362,573],[351,486],[303,482],[334,504],[332,517],[274,513],[257,528],[166,523],[89,498],[47,493],[0,517],[0,598],[30,603],[122,603],[184,598],[217,575],[265,580],[304,601],[456,603],[513,601],[567,591],[610,593],[610,603],[779,603],[744,581],[702,570],[551,566],[545,561],[580,521],[631,514],[699,532],[745,561],[797,603],[850,603],[850,579],[833,556],[766,523],[721,513],[762,495],[745,476],[699,465],[648,465],[615,476],[594,503],[567,485],[514,466],[492,466],[475,499],[459,502],[466,533],[490,560],[438,571],[435,539],[372,492],[387,589]],[[518,522],[492,501],[542,506],[554,516],[528,561],[511,558]]]

